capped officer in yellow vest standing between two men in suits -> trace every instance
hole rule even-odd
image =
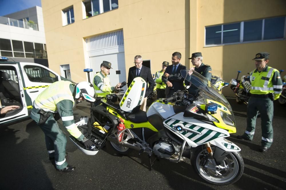
[[[166,89],[166,84],[162,81],[162,76],[164,75],[165,69],[169,65],[168,61],[164,61],[162,63],[162,70],[157,71],[155,74],[154,81],[156,83],[156,91],[157,91],[157,98],[165,98],[165,89]]]

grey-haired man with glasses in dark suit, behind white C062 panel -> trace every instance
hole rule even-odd
[[[155,82],[154,82],[154,79],[152,77],[150,68],[142,65],[141,55],[136,55],[134,57],[134,64],[135,64],[135,66],[130,67],[129,71],[128,71],[127,86],[129,87],[130,84],[132,83],[133,79],[136,77],[141,77],[142,79],[144,79],[146,81],[148,88],[146,89],[145,97],[144,97],[143,103],[140,107],[141,110],[146,111],[147,96],[151,92],[153,92]]]

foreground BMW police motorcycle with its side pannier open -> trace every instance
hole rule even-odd
[[[139,108],[147,85],[136,77],[120,102],[116,96],[106,95],[102,105],[90,108],[90,118],[76,121],[93,142],[91,147],[84,147],[72,136],[71,140],[88,155],[95,155],[106,141],[122,155],[132,149],[146,153],[151,170],[151,155],[175,163],[188,158],[207,183],[235,183],[243,174],[244,162],[241,149],[225,139],[236,132],[231,106],[196,71],[182,70],[181,74],[200,90],[196,100],[186,91],[178,91],[170,98],[154,101],[144,112]]]

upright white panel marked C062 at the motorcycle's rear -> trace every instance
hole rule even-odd
[[[144,79],[136,77],[124,93],[119,103],[120,109],[130,113],[136,106],[141,105],[145,97],[146,87]]]

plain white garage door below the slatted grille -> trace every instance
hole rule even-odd
[[[119,82],[126,81],[124,52],[90,57],[90,65],[93,70],[92,80],[94,75],[100,71],[100,64],[102,61],[110,62],[111,67],[113,68],[110,69],[110,73],[108,75],[111,86],[115,86]],[[123,89],[126,90],[126,86]]]

